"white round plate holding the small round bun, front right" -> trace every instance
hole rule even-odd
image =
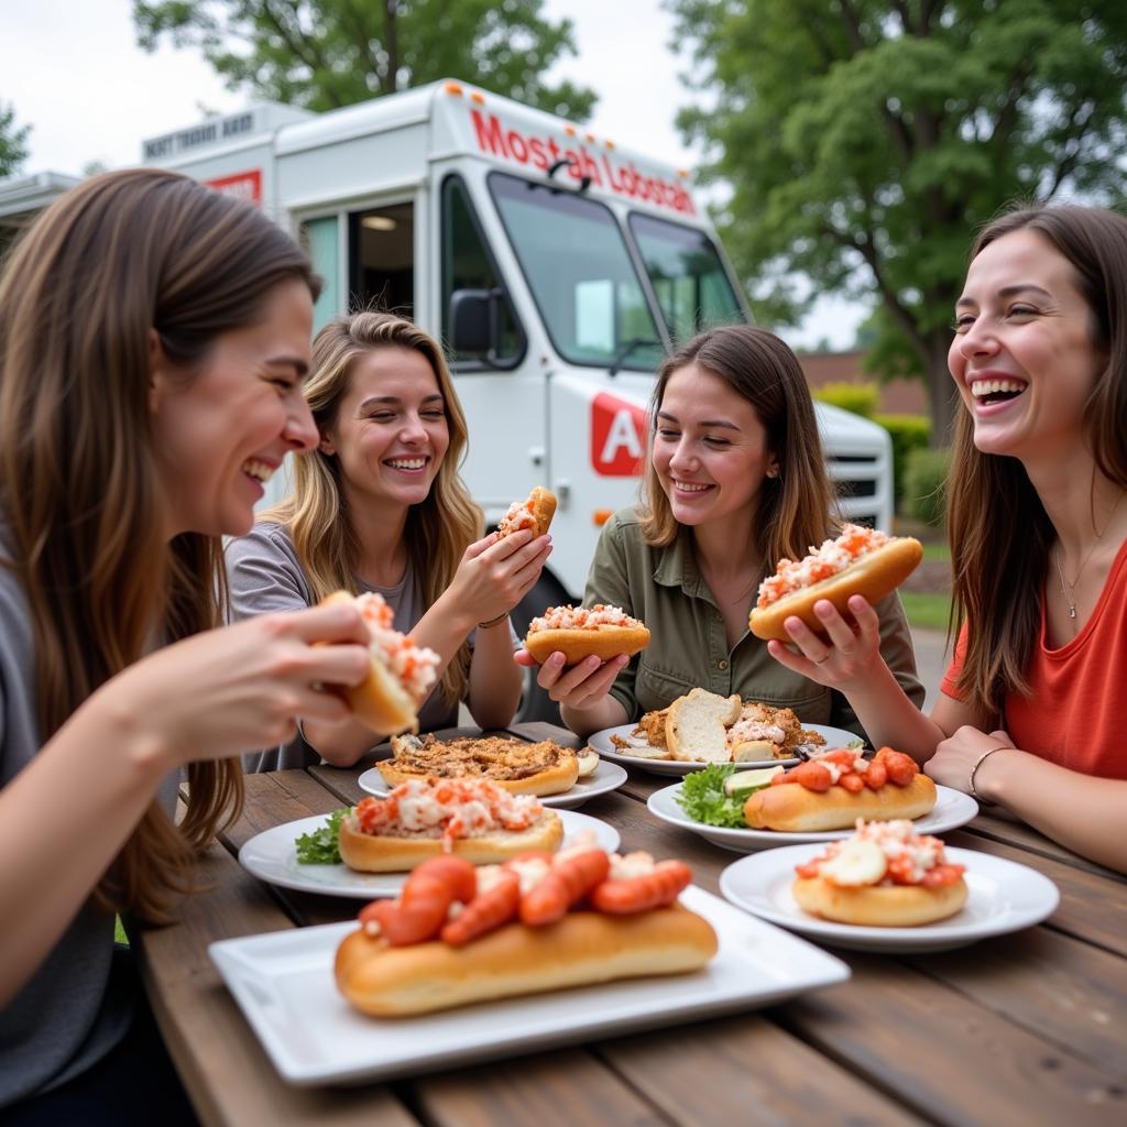
[[[948,849],[947,859],[965,864],[967,903],[948,920],[922,928],[861,928],[832,923],[804,912],[791,895],[795,866],[822,852],[820,845],[790,845],[740,858],[720,873],[720,891],[737,907],[834,947],[858,951],[947,951],[990,935],[1040,923],[1056,911],[1061,894],[1048,877],[1015,861]]]

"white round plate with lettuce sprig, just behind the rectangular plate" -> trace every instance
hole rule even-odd
[[[605,822],[574,810],[557,811],[564,823],[566,849],[577,834],[594,831],[598,845],[609,853],[619,848],[619,832]],[[323,893],[327,896],[355,896],[374,899],[394,896],[407,880],[406,872],[356,872],[346,864],[299,864],[294,842],[302,835],[320,829],[326,815],[286,822],[256,834],[239,850],[239,863],[260,880],[300,893]]]

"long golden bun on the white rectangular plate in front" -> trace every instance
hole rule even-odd
[[[506,924],[454,948],[389,947],[363,930],[337,950],[340,992],[365,1013],[401,1017],[567,986],[695,970],[717,951],[709,923],[674,905],[632,916],[569,912],[545,928]]]

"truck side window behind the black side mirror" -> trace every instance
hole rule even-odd
[[[450,295],[455,290],[500,292],[497,304],[497,346],[490,364],[515,366],[524,356],[524,331],[500,281],[492,256],[481,234],[481,225],[458,176],[442,185],[442,336],[450,340]],[[451,353],[459,365],[480,366],[481,358],[469,353]]]

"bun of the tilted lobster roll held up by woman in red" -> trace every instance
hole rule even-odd
[[[861,531],[871,534],[871,530]],[[835,575],[809,583],[774,602],[763,605],[761,594],[760,605],[748,618],[748,628],[757,638],[790,641],[790,635],[783,629],[783,622],[793,614],[811,630],[823,633],[822,621],[814,613],[814,604],[819,598],[829,600],[841,613],[848,614],[846,604],[850,596],[863,595],[870,603],[879,602],[898,587],[922,559],[923,545],[919,540],[912,536],[893,536],[880,547],[866,551]],[[761,587],[761,592],[762,589]]]

